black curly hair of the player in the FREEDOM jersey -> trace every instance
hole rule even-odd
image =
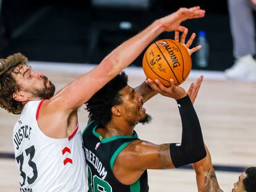
[[[87,111],[92,120],[105,127],[112,117],[111,107],[122,103],[119,91],[127,86],[128,77],[121,72],[87,101]]]

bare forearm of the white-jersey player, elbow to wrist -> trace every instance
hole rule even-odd
[[[160,33],[164,31],[160,20],[156,20],[150,26],[145,28],[139,34],[124,41],[120,46],[114,49],[103,61],[87,75],[79,79],[78,84],[84,85],[83,81],[94,78],[98,85],[105,85],[109,80],[131,64],[140,53],[151,43]],[[98,87],[98,86],[96,86]],[[101,88],[101,87],[100,87]]]

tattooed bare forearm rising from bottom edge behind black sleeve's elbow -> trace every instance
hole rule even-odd
[[[197,178],[198,192],[223,192],[218,184],[207,146],[205,146],[205,150],[207,151],[207,156],[193,164]]]

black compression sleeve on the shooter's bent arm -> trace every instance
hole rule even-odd
[[[182,122],[181,144],[171,143],[171,159],[175,167],[200,161],[207,155],[200,123],[189,96],[177,100]]]

